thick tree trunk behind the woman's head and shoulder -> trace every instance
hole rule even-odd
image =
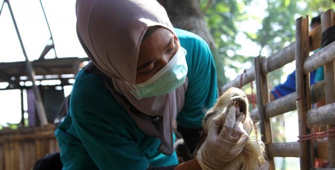
[[[174,27],[195,33],[208,43],[216,66],[218,86],[223,86],[227,81],[223,65],[200,9],[199,0],[158,0],[158,2],[167,10],[168,18]]]

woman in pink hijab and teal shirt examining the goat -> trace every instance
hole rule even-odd
[[[156,0],[76,6],[78,38],[91,62],[77,75],[55,132],[63,170],[210,170],[242,151],[249,136],[229,118],[214,121],[196,158],[178,165],[173,151],[174,120],[192,152],[204,110],[217,99],[203,39],[173,28]]]

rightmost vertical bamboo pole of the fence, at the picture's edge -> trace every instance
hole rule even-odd
[[[322,32],[327,30],[329,27],[334,25],[334,12],[333,9],[329,9],[321,15],[321,29]],[[325,76],[325,94],[326,104],[335,102],[335,91],[334,91],[334,61],[326,63],[324,65],[324,76]],[[335,128],[335,125],[328,126],[329,129]],[[335,168],[335,137],[328,137],[328,168]]]

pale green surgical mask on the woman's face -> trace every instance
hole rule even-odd
[[[180,47],[171,60],[154,76],[141,84],[128,84],[130,93],[138,100],[146,97],[167,94],[184,84],[188,67],[186,50]]]

